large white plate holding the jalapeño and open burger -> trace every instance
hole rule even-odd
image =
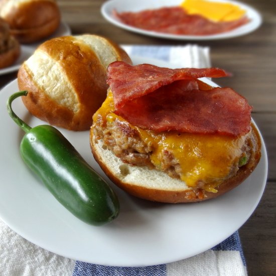
[[[134,64],[170,64],[131,57]],[[214,83],[212,83],[215,85]],[[18,91],[14,80],[0,91],[0,218],[27,240],[59,255],[95,264],[144,266],[168,263],[201,253],[234,233],[256,208],[266,182],[267,156],[244,183],[210,201],[162,204],[134,198],[115,187],[93,159],[89,131],[61,129],[84,159],[114,188],[120,214],[109,224],[91,226],[67,211],[23,163],[24,132],[9,117],[6,101]],[[45,122],[31,116],[21,99],[13,109],[30,126]]]

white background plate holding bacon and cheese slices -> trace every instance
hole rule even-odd
[[[147,35],[147,36],[159,37],[159,38],[165,38],[165,39],[176,39],[176,40],[216,40],[216,39],[233,38],[233,37],[238,37],[238,36],[242,36],[250,32],[253,32],[260,26],[262,22],[261,16],[252,7],[237,1],[230,1],[230,0],[215,0],[215,1],[231,2],[233,4],[240,6],[242,9],[246,11],[246,16],[250,19],[250,22],[232,31],[216,34],[216,35],[206,35],[206,36],[173,35],[173,34],[158,33],[158,32],[152,32],[152,31],[131,27],[122,23],[112,15],[112,11],[114,9],[116,9],[118,12],[138,12],[138,11],[143,11],[147,9],[158,9],[165,6],[167,7],[179,6],[183,2],[183,0],[159,0],[159,1],[109,0],[102,5],[101,14],[107,21],[122,29]]]

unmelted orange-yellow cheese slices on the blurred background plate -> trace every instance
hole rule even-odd
[[[231,3],[185,0],[180,6],[190,15],[200,15],[215,22],[237,20],[245,14],[243,9]]]

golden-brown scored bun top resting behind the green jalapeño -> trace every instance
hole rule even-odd
[[[114,42],[97,35],[48,40],[23,63],[18,73],[27,109],[36,117],[70,130],[87,130],[106,98],[107,66],[131,63]]]

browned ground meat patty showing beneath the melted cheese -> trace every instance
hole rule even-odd
[[[93,134],[97,139],[103,139],[104,145],[124,163],[162,170],[173,178],[180,178],[181,167],[173,153],[168,150],[163,150],[161,166],[156,168],[151,162],[152,145],[146,144],[140,138],[137,130],[130,127],[126,121],[115,119],[112,122],[104,123],[101,116],[98,116],[97,121],[93,123]],[[250,147],[248,141],[249,139],[246,140],[242,147],[240,160],[249,160]],[[239,166],[243,165],[245,165],[244,161],[243,164],[239,163],[239,161],[233,164],[229,175],[225,179],[234,176]],[[200,187],[200,183],[198,185]],[[204,183],[202,183],[203,185]]]

